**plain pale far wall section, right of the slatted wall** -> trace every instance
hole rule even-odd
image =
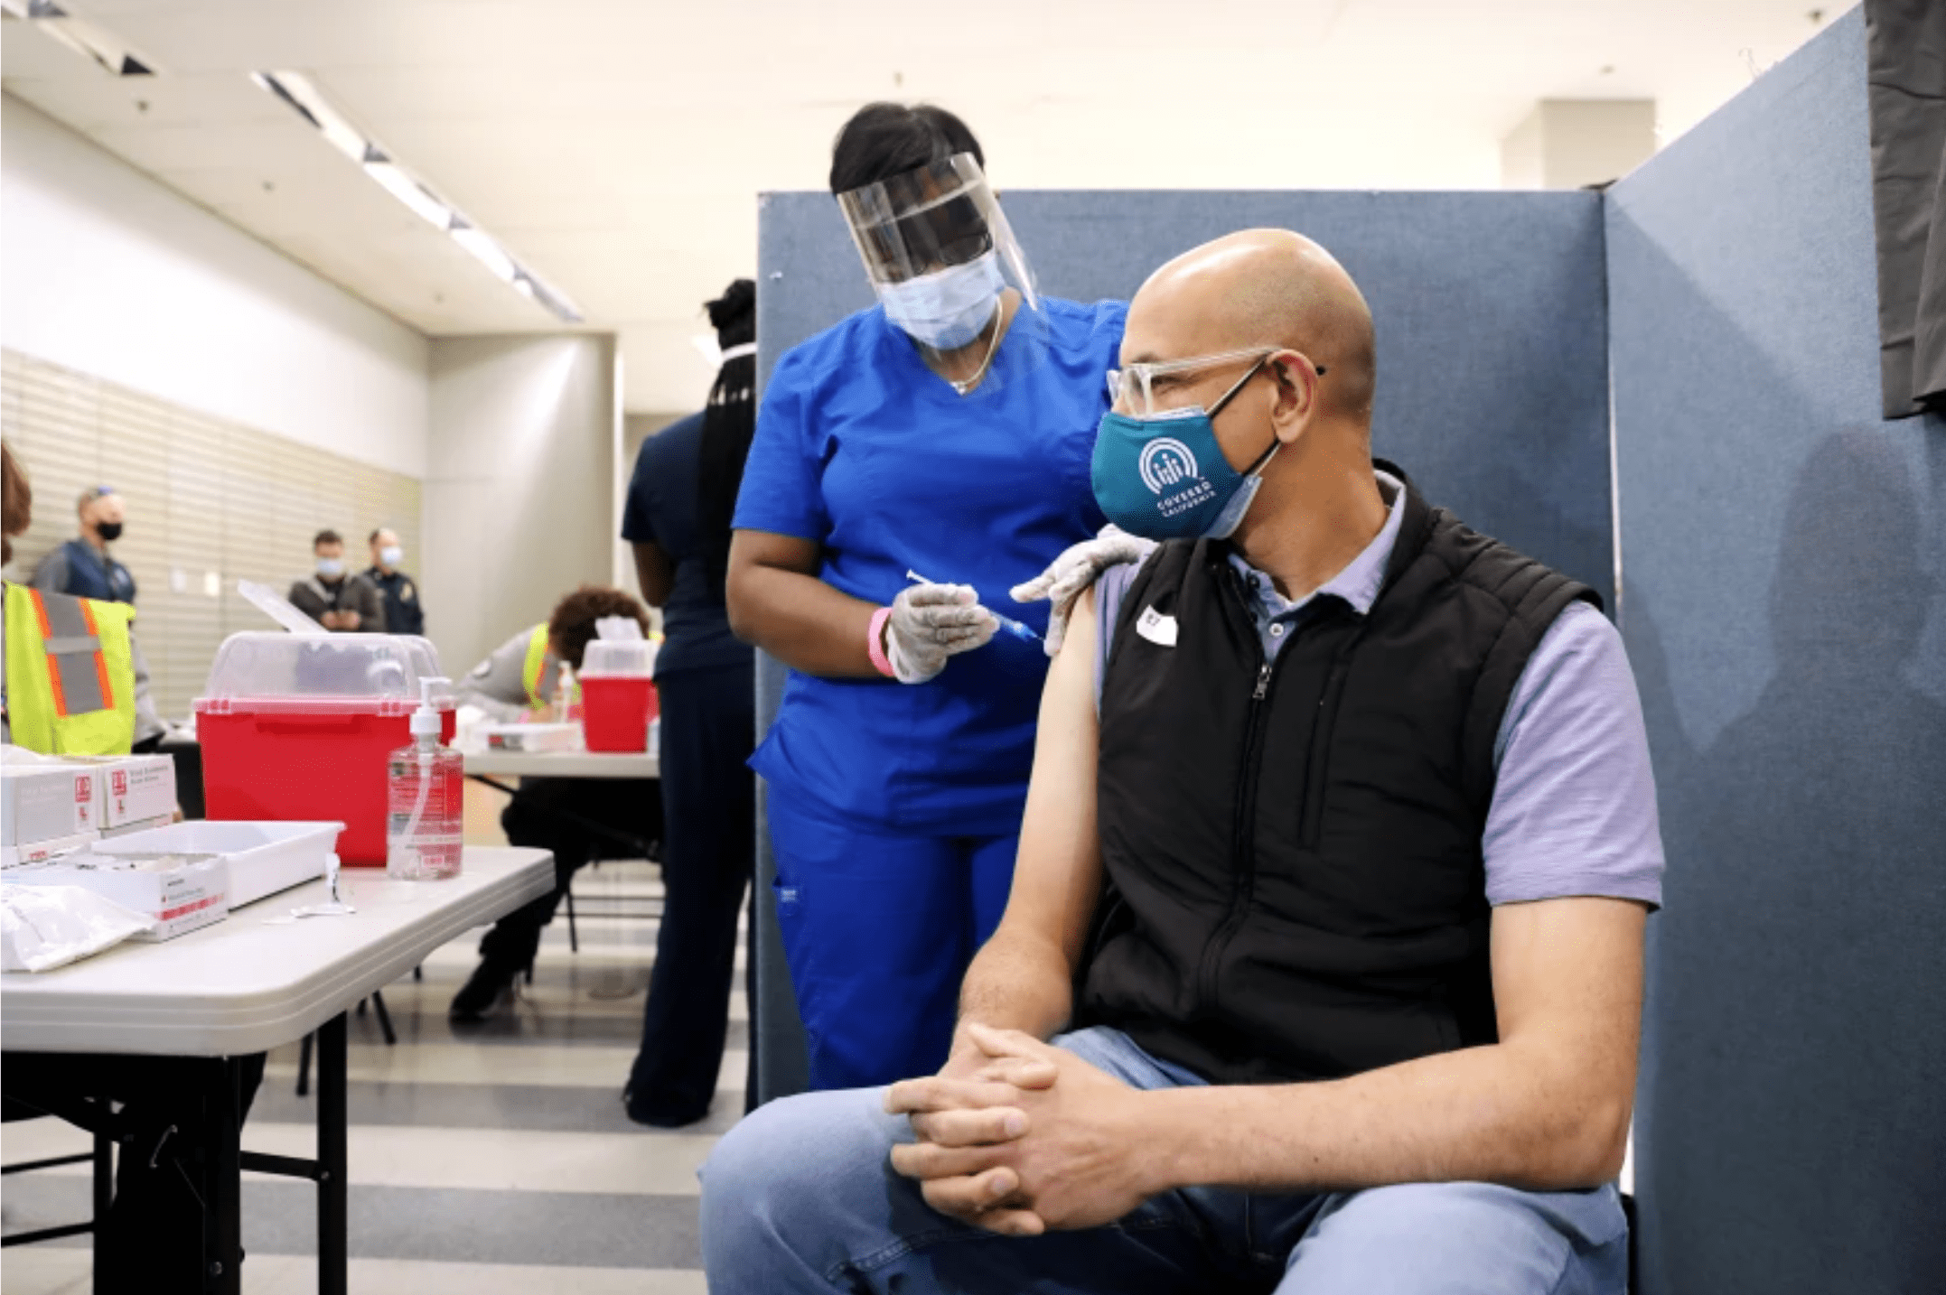
[[[426,634],[463,673],[615,570],[615,340],[432,342]]]

